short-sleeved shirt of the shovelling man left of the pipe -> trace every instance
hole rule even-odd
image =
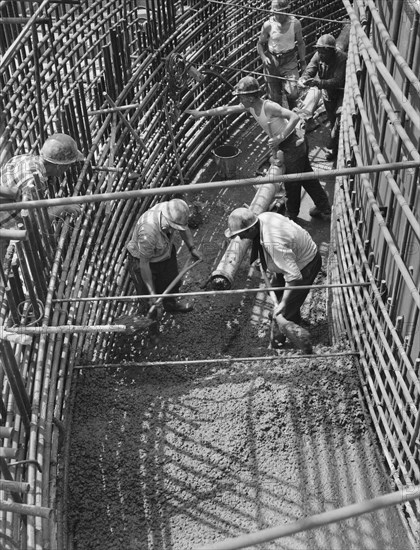
[[[150,263],[167,260],[171,255],[175,232],[162,229],[162,204],[156,204],[142,214],[134,227],[127,250],[135,258]]]

